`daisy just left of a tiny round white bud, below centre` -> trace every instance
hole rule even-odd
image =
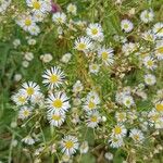
[[[95,128],[98,126],[101,121],[101,116],[98,111],[87,112],[87,126],[90,128]]]

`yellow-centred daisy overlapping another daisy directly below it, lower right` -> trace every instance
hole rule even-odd
[[[126,133],[127,133],[127,129],[125,128],[125,126],[118,124],[112,129],[111,136],[122,138],[126,136]]]

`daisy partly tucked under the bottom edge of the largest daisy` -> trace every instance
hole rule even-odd
[[[65,121],[65,113],[48,113],[48,120],[51,126],[60,127]]]

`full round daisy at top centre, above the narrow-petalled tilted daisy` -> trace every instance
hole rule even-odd
[[[89,26],[86,29],[86,33],[93,40],[98,40],[99,37],[103,35],[102,27],[98,23],[89,24]]]

